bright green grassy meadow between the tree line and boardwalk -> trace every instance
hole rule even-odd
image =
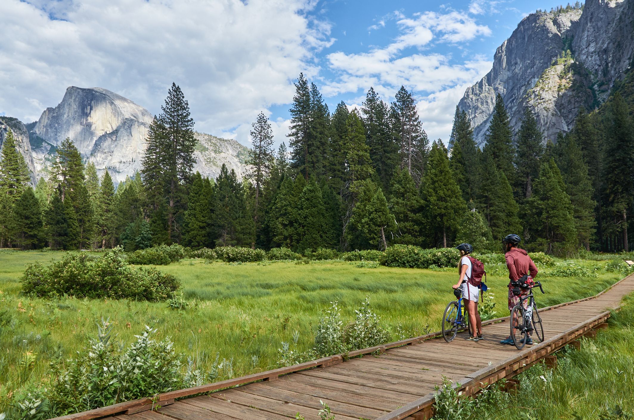
[[[314,327],[335,300],[344,320],[351,320],[354,309],[370,296],[394,339],[437,331],[457,278],[454,269],[358,268],[342,261],[306,265],[184,259],[157,268],[181,280],[190,304],[186,310],[172,310],[166,303],[21,296],[19,279],[25,265],[61,255],[0,251],[0,349],[6,348],[0,352],[0,412],[15,390],[46,383],[52,355],[61,351],[71,357],[87,338],[96,336],[102,317],[110,318],[117,341],[129,343],[149,325],[158,330],[158,338],[171,337],[176,349],[191,356],[198,368],[209,369],[219,354],[220,360],[232,360],[224,373],[239,376],[277,367],[280,343],[292,342],[295,331],[298,350],[313,346]],[[592,296],[620,277],[600,273],[592,279],[544,278],[547,293],[537,297],[538,305]],[[488,279],[498,316],[508,312],[507,282],[501,275]]]

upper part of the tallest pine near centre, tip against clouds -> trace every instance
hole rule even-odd
[[[308,81],[304,74],[299,75],[297,83],[295,83],[295,96],[293,97],[293,105],[289,110],[290,115],[290,148],[291,148],[291,167],[301,173],[304,178],[308,178],[309,155],[315,151],[311,150],[311,92]]]

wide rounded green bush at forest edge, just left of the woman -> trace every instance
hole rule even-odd
[[[380,263],[389,267],[457,267],[460,253],[455,248],[422,249],[413,245],[393,245],[385,250]]]

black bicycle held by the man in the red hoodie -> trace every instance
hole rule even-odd
[[[519,289],[523,285],[521,282],[511,282],[512,287],[517,290],[515,296],[519,296]],[[544,289],[541,288],[540,282],[534,282],[528,285],[528,294],[523,298],[520,298],[519,303],[513,306],[511,310],[510,327],[511,337],[517,350],[522,350],[526,345],[529,336],[536,334],[537,339],[544,341],[544,327],[541,325],[540,313],[537,312],[537,305],[535,304],[535,297],[533,296],[533,288],[540,287],[541,292]],[[524,287],[526,289],[526,287]],[[524,309],[524,302],[528,301],[526,309]]]

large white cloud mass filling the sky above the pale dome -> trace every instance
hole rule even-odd
[[[99,86],[160,112],[174,81],[196,129],[250,126],[318,73],[332,44],[311,0],[19,0],[0,2],[0,112],[25,122],[68,86]],[[235,130],[238,140],[243,129]],[[248,138],[248,130],[247,130]]]

